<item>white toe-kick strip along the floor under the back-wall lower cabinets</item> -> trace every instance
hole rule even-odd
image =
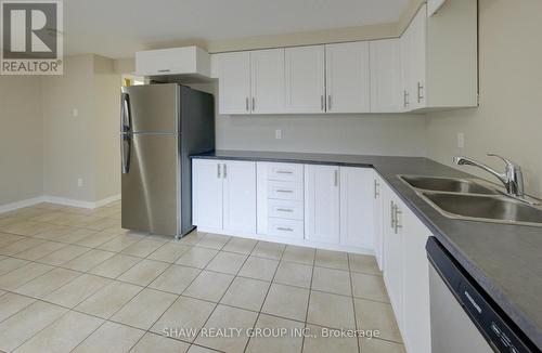
[[[250,238],[250,239],[256,239],[256,240],[282,243],[282,244],[287,244],[287,245],[297,245],[297,246],[324,249],[324,250],[347,251],[347,252],[352,252],[352,253],[373,254],[373,256],[375,254],[374,250],[372,250],[372,249],[365,249],[365,248],[353,247],[353,246],[348,246],[348,245],[340,245],[340,244],[311,241],[309,239],[293,239],[293,238],[287,238],[287,237],[282,237],[282,236],[271,236],[271,235],[264,235],[264,234],[246,234],[246,233],[242,234],[238,232],[229,232],[229,231],[224,231],[224,230],[203,227],[203,226],[198,226],[197,231],[202,232],[202,233],[223,234],[223,235],[238,236],[238,237]]]

